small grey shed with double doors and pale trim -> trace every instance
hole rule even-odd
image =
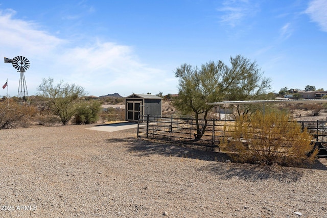
[[[125,98],[126,121],[136,122],[141,115],[162,115],[162,98],[153,94],[131,94]]]

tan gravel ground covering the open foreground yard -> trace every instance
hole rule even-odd
[[[263,168],[89,127],[0,130],[0,217],[327,217],[326,159]]]

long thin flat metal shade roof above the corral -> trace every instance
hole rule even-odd
[[[308,99],[308,100],[255,100],[255,101],[225,101],[207,103],[208,105],[244,105],[244,104],[277,104],[277,103],[327,103],[327,99]]]

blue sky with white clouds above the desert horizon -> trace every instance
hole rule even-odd
[[[327,0],[0,0],[0,57],[30,60],[29,95],[49,77],[89,95],[174,94],[181,64],[239,54],[272,79],[271,91],[327,90],[326,11]],[[16,69],[2,62],[0,75],[16,96]]]

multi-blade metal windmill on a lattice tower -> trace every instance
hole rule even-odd
[[[16,56],[13,59],[5,57],[5,63],[11,63],[17,69],[17,72],[20,72],[17,97],[20,99],[20,103],[24,101],[29,105],[29,94],[27,92],[24,72],[30,67],[30,61],[26,57]]]

